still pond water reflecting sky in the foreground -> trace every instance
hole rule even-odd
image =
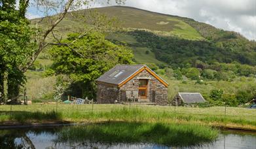
[[[79,126],[83,127],[83,126]],[[77,140],[65,141],[62,138],[66,127],[45,127],[31,129],[0,129],[0,148],[172,148],[147,142],[101,142],[93,139],[79,139],[81,135],[71,134]],[[67,131],[69,132],[69,131]],[[69,132],[71,133],[71,132]],[[96,139],[97,140],[97,139]],[[244,131],[221,131],[215,141],[193,146],[175,148],[256,148],[256,133]]]

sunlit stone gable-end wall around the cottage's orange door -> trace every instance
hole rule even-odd
[[[137,74],[132,80],[129,80],[120,87],[120,90],[124,91],[139,91],[139,78],[149,78],[148,82],[148,98],[151,102],[156,103],[157,105],[167,105],[168,104],[168,89],[162,84],[159,80],[152,76],[146,70]],[[120,97],[119,97],[120,101]]]

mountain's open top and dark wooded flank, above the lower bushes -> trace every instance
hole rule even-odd
[[[134,50],[137,63],[156,63],[185,67],[196,61],[256,65],[256,44],[239,33],[223,31],[190,18],[172,16],[132,7],[93,8],[108,17],[120,20],[124,31],[110,33],[110,41],[126,42]],[[88,10],[73,13],[85,14]],[[38,20],[32,20],[35,23]],[[39,24],[45,27],[46,19]],[[83,24],[67,14],[56,29],[60,35],[82,30]],[[139,30],[139,31],[136,31]],[[150,33],[153,33],[151,35]],[[51,39],[49,39],[51,40]],[[146,51],[149,54],[143,54]]]

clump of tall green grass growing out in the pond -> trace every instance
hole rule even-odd
[[[167,146],[194,146],[217,138],[218,131],[202,125],[110,122],[67,127],[57,142],[153,143]]]

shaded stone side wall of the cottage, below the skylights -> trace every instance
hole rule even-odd
[[[119,93],[117,86],[98,82],[97,103],[115,103],[119,100]]]

